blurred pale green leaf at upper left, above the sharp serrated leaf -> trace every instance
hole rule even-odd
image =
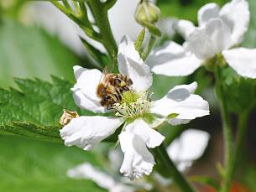
[[[50,75],[57,75],[74,80],[72,66],[83,63],[56,36],[10,19],[0,23],[0,42],[0,86],[4,88],[15,86],[14,76],[50,80]]]

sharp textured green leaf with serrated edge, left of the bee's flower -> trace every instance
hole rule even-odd
[[[0,130],[24,137],[60,141],[59,119],[62,110],[81,111],[71,95],[72,84],[52,77],[53,83],[43,80],[15,80],[20,91],[0,89]]]

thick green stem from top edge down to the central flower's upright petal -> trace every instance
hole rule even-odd
[[[102,36],[101,42],[107,50],[107,54],[109,54],[112,62],[116,64],[118,47],[115,39],[112,36],[112,30],[107,17],[107,8],[98,0],[88,0],[87,3],[91,8],[91,12],[94,16],[95,22],[97,23],[97,27],[100,29]]]

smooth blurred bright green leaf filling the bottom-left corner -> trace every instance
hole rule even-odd
[[[62,143],[0,135],[0,151],[1,191],[71,192],[76,186],[76,192],[107,192],[90,179],[71,179],[66,175],[68,169],[85,162],[102,168],[102,153],[98,155],[95,150],[85,152],[81,148],[66,148]]]

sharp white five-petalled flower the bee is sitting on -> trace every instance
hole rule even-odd
[[[92,112],[107,112],[96,94],[102,72],[79,66],[74,67],[74,70],[76,85],[72,91],[76,104]],[[118,48],[118,70],[133,80],[133,86],[130,87],[131,91],[123,93],[122,102],[114,105],[116,116],[74,118],[60,130],[60,136],[65,140],[65,145],[76,145],[88,150],[125,122],[123,132],[119,135],[124,153],[120,171],[130,179],[140,178],[143,174],[150,174],[154,166],[154,157],[148,148],[159,146],[165,139],[153,128],[166,121],[176,125],[206,116],[209,106],[201,96],[194,94],[196,82],[175,86],[164,98],[150,101],[147,93],[152,84],[149,66],[144,64],[133,42],[126,36]]]

